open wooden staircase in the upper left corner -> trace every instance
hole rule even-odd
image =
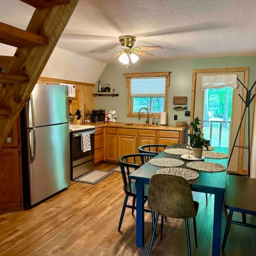
[[[13,57],[0,56],[0,148],[79,2],[20,1],[36,10],[26,31],[0,22],[0,43],[17,47]]]

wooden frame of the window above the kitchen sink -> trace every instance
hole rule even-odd
[[[164,95],[164,111],[168,111],[168,88],[170,87],[171,72],[147,72],[147,73],[130,73],[124,74],[125,86],[127,88],[127,117],[136,117],[137,113],[132,112],[132,98],[131,97],[131,79],[138,77],[165,77],[165,95]],[[149,117],[159,116],[160,113],[150,113]],[[141,112],[141,117],[147,117],[147,113]]]

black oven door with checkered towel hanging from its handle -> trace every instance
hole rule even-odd
[[[83,133],[90,134],[90,143],[91,150],[83,152],[81,148],[81,137]],[[94,159],[94,141],[95,140],[95,131],[84,131],[84,132],[76,132],[73,134],[72,138],[72,166],[77,166],[78,164],[82,164],[84,162],[90,161]]]

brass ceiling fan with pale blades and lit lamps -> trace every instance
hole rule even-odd
[[[135,47],[134,43],[136,41],[136,36],[119,36],[120,45],[116,44],[120,48],[113,49],[113,50],[100,50],[100,51],[91,51],[91,52],[106,52],[106,51],[118,51],[115,55],[112,56],[112,58],[116,58],[119,56],[118,60],[127,65],[128,67],[130,65],[130,60],[132,63],[135,63],[139,60],[139,56],[146,56],[146,57],[152,57],[153,54],[150,54],[146,51],[152,51],[152,50],[163,50],[161,46],[141,46],[141,47]]]

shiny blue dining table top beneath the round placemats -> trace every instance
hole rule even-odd
[[[169,148],[186,148],[186,145],[173,144]],[[227,148],[215,147],[214,152],[221,152],[221,153],[227,154]],[[156,157],[180,159],[184,162],[184,164],[182,166],[179,166],[179,168],[194,170],[186,166],[186,164],[189,163],[190,161],[186,161],[182,159],[180,155],[167,154],[163,151],[159,153],[158,156]],[[223,164],[226,167],[228,163],[228,159],[205,158],[204,161]],[[136,179],[136,180],[143,179],[143,182],[148,183],[152,175],[156,174],[157,170],[161,168],[164,168],[164,167],[154,166],[150,163],[145,163],[143,164],[143,166],[138,168],[135,172],[131,173],[129,177],[131,177],[131,179]],[[201,172],[197,170],[194,170],[194,171],[199,173],[199,177],[198,179],[195,179],[195,180],[189,180],[189,184],[191,184],[192,188],[193,187],[194,188],[211,187],[214,189],[225,189],[227,170],[225,172]]]

